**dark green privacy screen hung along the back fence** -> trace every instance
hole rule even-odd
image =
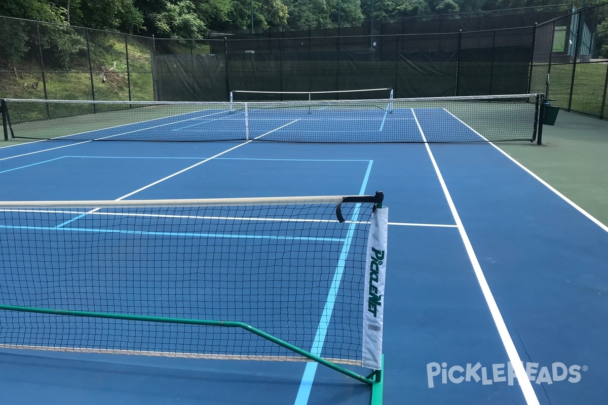
[[[330,49],[331,41],[346,40],[309,39],[329,41]],[[380,87],[392,88],[395,98],[523,94],[528,90],[532,43],[533,28],[525,28],[388,36],[382,38],[383,50],[285,52],[290,43],[284,40],[283,52],[154,55],[154,89],[159,101],[226,101],[233,90],[330,92]],[[319,47],[322,44],[317,43],[315,49]],[[275,99],[268,97],[252,94],[249,101]],[[361,98],[361,94],[336,97]]]

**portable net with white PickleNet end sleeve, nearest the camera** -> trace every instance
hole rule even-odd
[[[0,347],[380,369],[382,198],[1,202]]]

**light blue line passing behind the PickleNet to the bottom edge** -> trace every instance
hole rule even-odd
[[[361,185],[361,189],[359,189],[359,194],[365,193],[365,188],[367,188],[367,182],[370,178],[371,173],[371,165],[373,164],[373,160],[370,160],[370,163],[367,165],[367,171],[365,172],[365,177],[363,179],[363,183]],[[353,216],[356,217],[354,221],[358,220],[359,217],[359,208],[361,204],[357,204],[353,211]],[[319,328],[317,328],[317,333],[314,336],[314,342],[311,347],[311,353],[314,355],[320,356],[323,344],[325,342],[325,336],[327,335],[327,328],[330,324],[331,315],[333,312],[334,304],[336,303],[336,296],[340,288],[340,282],[342,282],[342,275],[344,274],[344,267],[346,257],[348,255],[348,251],[350,250],[350,245],[353,240],[354,233],[354,222],[350,223],[348,226],[347,239],[345,240],[344,245],[342,245],[342,251],[340,251],[340,259],[338,261],[338,265],[336,267],[336,272],[334,273],[333,280],[331,281],[330,291],[327,296],[327,301],[325,302],[325,307],[323,307],[323,315],[319,322]],[[304,369],[304,373],[302,375],[302,381],[300,382],[300,388],[298,389],[297,396],[295,397],[294,404],[295,405],[306,405],[308,404],[308,398],[310,398],[310,391],[313,387],[314,376],[317,372],[317,362],[308,362],[306,363],[306,367]]]

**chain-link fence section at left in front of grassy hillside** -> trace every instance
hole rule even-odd
[[[154,39],[0,17],[0,97],[154,100]]]

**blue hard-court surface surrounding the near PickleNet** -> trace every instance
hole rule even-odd
[[[413,113],[401,117],[412,140],[438,140],[440,116],[449,113]],[[399,119],[381,111],[365,118],[389,129]],[[459,138],[480,137],[445,119]],[[289,122],[266,120],[256,131],[278,136]],[[290,131],[299,132],[297,124]],[[138,131],[145,138],[152,126],[98,135]],[[342,129],[361,126],[349,121]],[[382,190],[390,209],[385,404],[570,405],[608,398],[608,228],[490,143],[64,139],[1,148],[0,174],[5,201]],[[367,385],[306,362],[2,349],[0,373],[0,403],[7,404],[370,403]]]

